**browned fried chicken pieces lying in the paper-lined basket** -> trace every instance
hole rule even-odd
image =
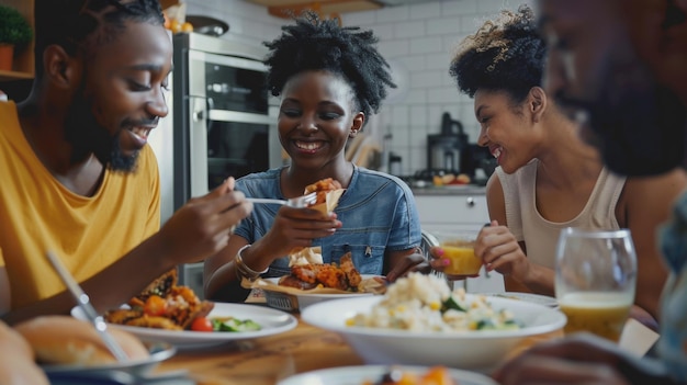
[[[282,286],[311,290],[315,287],[331,287],[341,291],[357,292],[362,278],[353,265],[351,253],[341,257],[339,265],[336,263],[309,263],[291,267],[291,274],[279,280]]]

